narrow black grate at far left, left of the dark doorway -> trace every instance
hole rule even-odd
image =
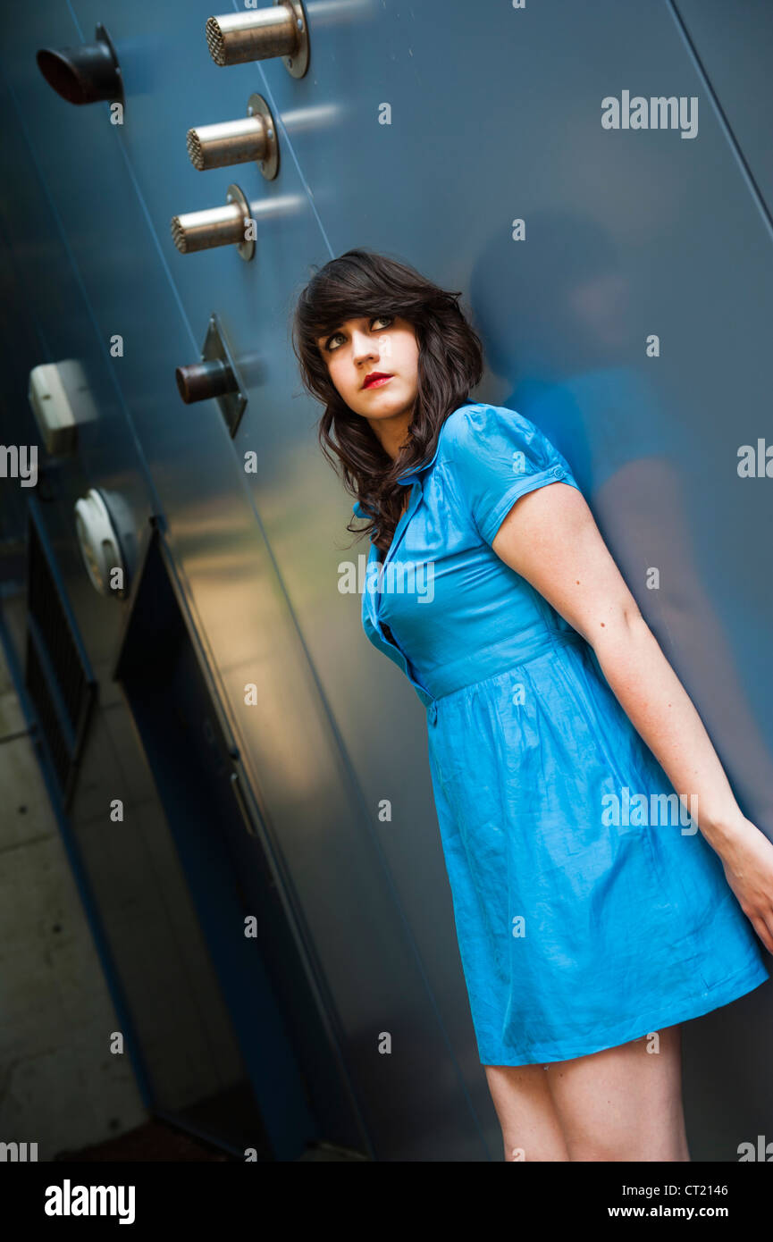
[[[27,528],[25,684],[67,806],[94,683],[78,650],[46,548],[31,513]]]

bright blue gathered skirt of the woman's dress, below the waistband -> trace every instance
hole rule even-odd
[[[614,1047],[769,977],[718,854],[582,637],[435,698],[428,735],[483,1064]]]

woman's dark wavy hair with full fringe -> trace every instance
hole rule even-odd
[[[292,348],[304,388],[324,405],[318,427],[322,452],[369,515],[368,525],[354,527],[352,518],[347,530],[375,532],[373,542],[382,551],[391,543],[405,497],[398,476],[431,458],[442,424],[470,400],[470,389],[483,373],[481,342],[459,308],[460,297],[461,292],[441,289],[405,263],[358,248],[317,271],[296,303]],[[344,402],[317,345],[318,337],[347,319],[377,315],[408,319],[419,345],[408,443],[395,461],[368,420]]]

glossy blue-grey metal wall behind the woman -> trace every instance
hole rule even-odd
[[[459,0],[321,5],[318,20],[314,7],[302,78],[278,60],[221,73],[206,56],[203,6],[14,10],[0,171],[24,170],[36,189],[4,206],[7,279],[21,273],[24,308],[0,345],[16,392],[0,430],[6,443],[31,442],[29,370],[82,360],[101,417],[80,428],[77,458],[53,469],[47,513],[103,707],[119,702],[108,669],[121,605],[88,582],[71,513],[88,487],[109,484],[138,532],[152,512],[168,522],[224,712],[334,1000],[373,1154],[498,1160],[424,709],[367,642],[359,596],[338,590],[341,564],[367,544],[344,530],[352,498],[319,453],[321,411],[301,389],[290,314],[312,265],[355,245],[464,291],[488,356],[477,395],[533,419],[570,461],[746,812],[773,833],[773,478],[737,472],[739,447],[771,438],[773,253],[759,189],[773,184],[771,152],[712,101],[710,86],[741,118],[752,52],[741,41],[732,65],[720,63],[697,4],[677,6],[682,27],[667,2],[515,10],[486,0],[486,37],[481,5]],[[733,21],[746,15],[768,37],[772,12],[739,4]],[[107,106],[55,106],[35,65],[43,37],[76,45],[97,20],[121,60],[121,125]],[[691,21],[705,61],[685,39]],[[242,266],[221,247],[184,257],[170,217],[222,201],[226,178],[203,183],[181,135],[232,116],[256,88],[282,150],[276,181],[241,174],[260,262]],[[605,130],[601,99],[623,89],[697,97],[696,138]],[[759,113],[749,132],[761,128]],[[517,220],[524,241],[513,240]],[[175,390],[174,369],[198,355],[213,308],[249,384],[234,438],[214,401],[186,407]],[[114,334],[121,358],[108,348]],[[651,334],[659,356],[647,355]],[[9,481],[2,489],[14,530],[24,497]],[[254,707],[247,683],[258,688]],[[83,784],[80,831],[92,843],[103,797],[96,776]],[[702,1118],[693,1159],[733,1160],[728,1135],[763,1129],[769,1021],[761,990],[686,1032],[687,1104],[700,1099]],[[386,1063],[380,1032],[393,1037]],[[717,1040],[732,1048],[721,1073]]]

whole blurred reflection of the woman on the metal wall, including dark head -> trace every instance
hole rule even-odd
[[[684,251],[687,232],[650,238],[659,263],[670,247]],[[769,832],[773,756],[737,666],[738,657],[747,661],[753,684],[758,661],[748,653],[764,650],[767,637],[756,584],[738,574],[751,532],[738,517],[728,520],[728,483],[702,435],[702,405],[697,426],[688,426],[700,400],[693,385],[682,392],[690,361],[675,361],[672,350],[645,356],[664,309],[651,261],[636,247],[621,255],[611,232],[582,211],[537,209],[528,246],[495,230],[476,255],[473,314],[488,365],[508,385],[502,404],[536,422],[570,463],[636,602],[677,661],[737,796]],[[723,625],[731,611],[736,651]]]

